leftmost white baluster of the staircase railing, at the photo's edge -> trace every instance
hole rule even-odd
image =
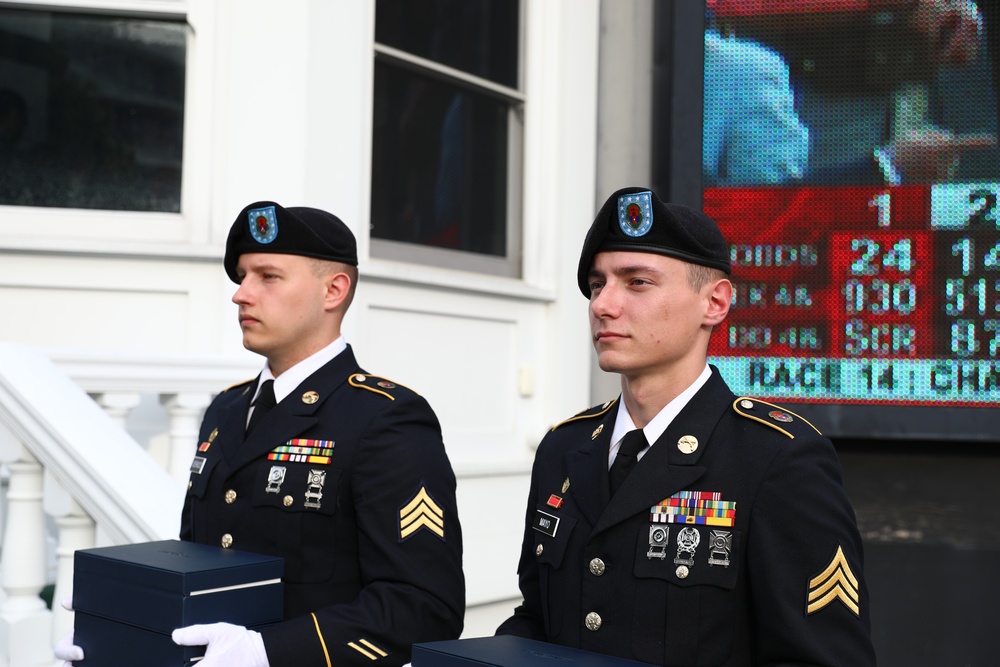
[[[26,449],[8,463],[7,524],[0,557],[0,661],[9,667],[52,661],[51,612],[39,593],[45,586],[45,512],[42,466]]]

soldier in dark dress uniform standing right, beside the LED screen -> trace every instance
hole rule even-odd
[[[655,665],[874,665],[854,511],[832,443],[707,363],[732,300],[703,213],[608,198],[577,280],[621,395],[535,457],[498,629]]]

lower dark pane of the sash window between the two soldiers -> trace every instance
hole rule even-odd
[[[507,105],[375,64],[372,236],[503,257]]]

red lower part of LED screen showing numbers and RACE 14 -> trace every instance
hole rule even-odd
[[[734,300],[710,355],[784,401],[1000,399],[995,184],[713,188]]]

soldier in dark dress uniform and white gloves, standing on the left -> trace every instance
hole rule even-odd
[[[202,667],[402,665],[462,631],[455,476],[427,401],[341,336],[357,263],[326,211],[261,201],[230,230],[243,343],[266,363],[205,414],[181,539],[282,556],[285,621],[176,630],[208,644]]]

